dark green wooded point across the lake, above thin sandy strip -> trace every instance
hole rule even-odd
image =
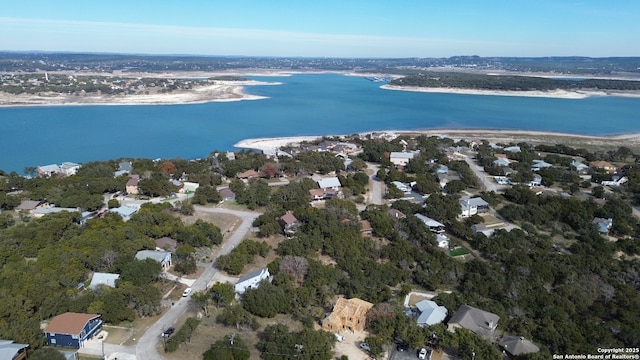
[[[425,72],[395,79],[390,85],[506,91],[640,90],[640,81],[630,80],[550,79],[455,72]]]

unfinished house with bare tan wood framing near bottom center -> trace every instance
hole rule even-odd
[[[342,330],[362,331],[367,324],[367,313],[373,304],[361,299],[339,298],[333,311],[322,320],[322,330],[338,333]]]

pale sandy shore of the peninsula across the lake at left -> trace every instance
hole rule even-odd
[[[0,107],[59,105],[171,105],[260,100],[265,99],[266,97],[245,93],[245,86],[280,84],[281,83],[277,82],[262,82],[254,80],[216,81],[215,84],[197,87],[193,90],[176,90],[170,93],[135,95],[68,95],[58,93],[13,95],[0,93]]]

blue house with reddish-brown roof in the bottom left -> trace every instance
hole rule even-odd
[[[68,312],[51,319],[44,332],[49,345],[81,348],[101,328],[98,314]]]

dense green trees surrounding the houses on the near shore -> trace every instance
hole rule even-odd
[[[168,180],[188,176],[201,184],[192,201],[203,205],[220,201],[215,189],[223,178],[262,170],[263,178],[227,182],[237,194],[234,206],[257,209],[262,215],[254,223],[258,238],[246,239],[219,258],[217,266],[238,274],[253,259],[273,254],[268,264],[273,281],[248,289],[239,301],[228,284],[216,284],[192,295],[205,314],[216,313],[217,326],[259,331],[259,341],[248,344],[239,337],[238,345],[228,348],[229,338],[211,339],[205,358],[214,358],[217,351],[246,358],[253,348],[263,359],[331,359],[335,338],[316,330],[314,324],[325,317],[338,296],[374,304],[366,339],[374,357],[399,340],[412,348],[430,346],[457,352],[463,359],[471,359],[470,349],[477,358],[500,356],[497,347],[469,331],[452,333],[443,325],[419,327],[414,318],[405,315],[402,305],[404,296],[413,289],[437,292],[434,301],[449,314],[467,304],[499,315],[501,334],[524,336],[540,345],[541,351],[528,359],[546,359],[552,353],[592,353],[599,347],[637,346],[640,227],[632,205],[640,199],[640,171],[633,151],[481,142],[470,153],[488,173],[498,171],[492,165],[496,154],[509,157],[514,161],[512,170],[516,170],[509,176],[521,184],[533,178],[533,160],[550,163],[552,167],[538,175],[548,187],[566,195],[536,195],[526,185],[503,193],[482,191],[467,162],[450,155],[451,149],[468,149],[466,141],[427,136],[390,142],[370,138],[352,141],[362,149],[353,156],[353,167],[345,167],[329,152],[313,151],[313,144],[304,144],[298,152],[291,151],[295,153],[291,158],[278,162],[248,151],[236,153],[234,159],[212,153],[196,161],[133,161],[133,172],[144,175],[140,181],[143,194],[170,196],[175,189]],[[403,146],[420,152],[398,169],[388,155]],[[506,152],[507,146],[518,146],[520,151]],[[580,177],[570,165],[575,159],[615,162],[618,174],[629,181],[619,188],[605,189]],[[405,218],[390,217],[387,205],[366,204],[363,194],[369,175],[365,161],[379,167],[377,179],[387,188],[392,189],[394,181],[414,183],[414,191],[428,196],[423,203],[416,203],[389,190],[386,197],[391,208]],[[157,314],[162,311],[160,294],[165,280],[159,277],[157,264],[134,260],[135,252],[153,248],[153,239],[170,236],[182,246],[176,252],[183,257],[181,261],[189,262],[196,248],[221,243],[220,229],[212,224],[196,221],[186,225],[180,220],[178,214],[192,213],[191,204],[146,204],[127,222],[107,214],[84,224],[80,224],[78,213],[29,219],[13,210],[25,198],[99,209],[104,194],[124,190],[126,178],[113,177],[115,164],[86,164],[77,175],[66,178],[28,179],[15,173],[2,177],[0,337],[37,348],[44,340],[40,321],[64,311],[98,312],[111,324]],[[459,180],[442,187],[436,173],[440,166],[458,174]],[[329,173],[338,174],[344,198],[312,206],[309,190],[316,185],[309,175]],[[288,184],[269,186],[270,178],[283,174],[289,178]],[[592,178],[610,179],[611,175],[595,171]],[[459,216],[459,200],[465,192],[482,197],[497,215],[517,228],[496,230],[490,236],[474,233],[471,226],[485,220],[480,215]],[[287,211],[301,223],[293,236],[285,236],[277,221]],[[439,248],[435,234],[414,214],[445,224],[451,247],[466,247],[475,255],[461,260]],[[595,217],[613,219],[608,234],[601,234],[593,225]],[[362,233],[360,220],[371,223],[372,236]],[[266,245],[266,239],[277,239],[277,246]],[[117,272],[121,279],[113,289],[83,291],[78,284],[87,281],[91,271]],[[273,321],[279,315],[287,316],[300,329],[281,324],[263,326],[265,319]],[[197,336],[204,325],[191,321],[185,326],[179,334],[186,339]],[[180,351],[179,344],[171,346]]]

